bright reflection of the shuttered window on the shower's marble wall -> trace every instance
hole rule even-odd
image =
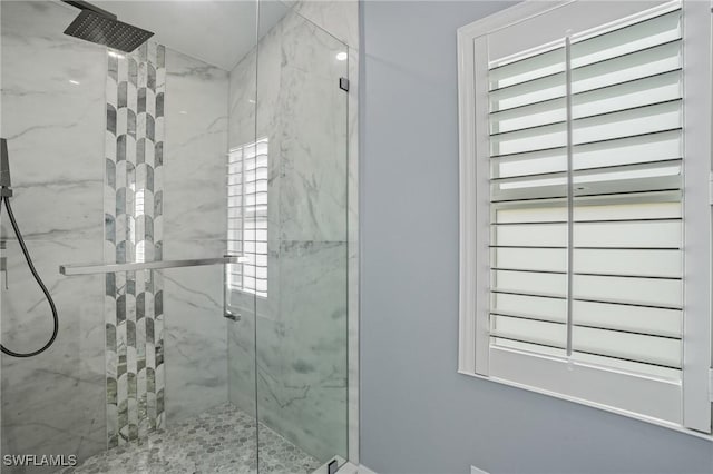
[[[267,139],[233,148],[228,160],[227,290],[267,296]]]

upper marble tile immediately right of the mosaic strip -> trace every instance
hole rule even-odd
[[[227,215],[227,72],[174,50],[166,57],[164,237],[223,239]]]

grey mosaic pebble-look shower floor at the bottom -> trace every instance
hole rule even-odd
[[[143,443],[89,457],[62,474],[209,474],[256,472],[255,419],[231,404],[212,408]],[[260,425],[260,472],[312,473],[320,463],[274,431]]]

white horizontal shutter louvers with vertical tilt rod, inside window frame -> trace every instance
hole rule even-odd
[[[681,379],[681,10],[489,67],[490,344]]]

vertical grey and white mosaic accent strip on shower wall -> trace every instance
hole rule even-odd
[[[165,57],[150,41],[130,55],[107,51],[107,263],[162,259]],[[162,289],[158,271],[106,276],[109,447],[146,440],[165,423]]]

